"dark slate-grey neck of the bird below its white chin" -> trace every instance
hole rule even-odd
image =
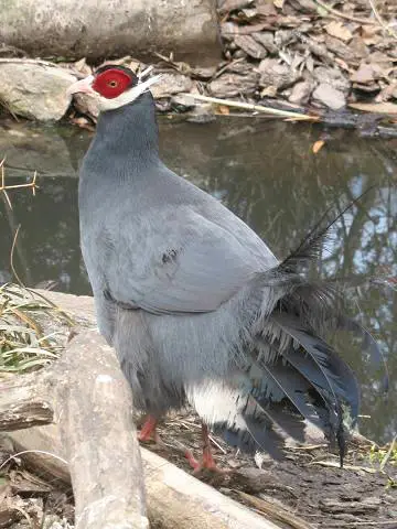
[[[114,164],[125,175],[159,163],[159,132],[150,93],[100,115],[88,156],[93,163],[105,164],[103,170],[111,171]]]

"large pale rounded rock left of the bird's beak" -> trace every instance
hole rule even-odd
[[[0,61],[0,100],[28,119],[61,119],[69,104],[66,88],[76,77],[63,68],[29,60]]]

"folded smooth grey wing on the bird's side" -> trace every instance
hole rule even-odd
[[[109,294],[125,307],[154,314],[214,311],[269,268],[265,244],[255,255],[253,245],[195,210],[179,208],[162,222],[148,218],[151,224],[141,219],[121,231],[104,266]]]

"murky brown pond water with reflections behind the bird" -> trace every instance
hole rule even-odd
[[[173,120],[174,121],[174,120]],[[397,431],[397,156],[396,140],[360,139],[328,131],[313,143],[316,126],[222,118],[206,125],[161,122],[162,154],[179,174],[222,199],[285,257],[326,208],[335,214],[374,186],[337,223],[324,249],[324,277],[358,274],[368,281],[351,289],[352,314],[378,339],[390,371],[388,399],[356,344],[343,341],[345,357],[363,388],[361,430],[378,441]],[[56,281],[56,290],[89,293],[78,247],[77,168],[92,134],[72,127],[0,125],[0,159],[7,183],[28,182],[37,171],[40,190],[10,192],[11,210],[0,204],[0,281],[12,279],[10,250],[21,224],[14,268],[26,285]],[[3,198],[3,197],[2,197]],[[105,214],[105,213],[104,213]],[[369,281],[385,277],[387,281]]]

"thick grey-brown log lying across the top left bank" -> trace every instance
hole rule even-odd
[[[221,57],[213,0],[9,0],[0,41],[36,56],[98,60],[153,52],[213,63]]]

